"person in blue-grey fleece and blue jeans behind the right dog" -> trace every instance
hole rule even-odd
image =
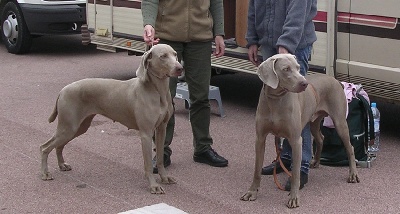
[[[296,56],[300,64],[300,73],[306,75],[312,45],[317,40],[313,18],[317,14],[317,0],[250,0],[247,20],[247,48],[249,60],[256,66],[262,60],[275,55],[290,53]],[[312,159],[310,125],[307,124],[301,134],[303,139],[302,163],[300,169],[300,189],[308,182],[310,161]],[[282,163],[291,167],[292,150],[284,140],[281,152]],[[263,167],[263,175],[271,175],[274,167],[277,173],[283,171],[280,164],[273,162]],[[290,191],[290,179],[285,185]]]

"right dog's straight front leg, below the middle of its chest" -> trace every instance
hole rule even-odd
[[[299,206],[299,189],[300,189],[300,167],[302,156],[302,138],[299,135],[297,138],[288,139],[292,147],[292,177],[290,182],[290,196],[287,206],[296,208]],[[292,143],[293,142],[293,143]]]

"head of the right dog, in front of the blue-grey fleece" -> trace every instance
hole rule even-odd
[[[258,66],[257,74],[269,87],[284,88],[299,93],[307,88],[307,80],[300,74],[300,65],[292,54],[276,54]]]

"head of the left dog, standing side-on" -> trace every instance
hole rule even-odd
[[[143,80],[147,80],[148,75],[165,79],[179,76],[182,72],[183,66],[178,62],[176,51],[169,45],[158,44],[143,54],[136,76]]]

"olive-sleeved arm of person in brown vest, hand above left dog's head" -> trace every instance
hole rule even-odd
[[[145,0],[141,3],[142,18],[143,18],[143,40],[148,45],[155,45],[159,39],[155,39],[155,25],[158,12],[159,0]]]

